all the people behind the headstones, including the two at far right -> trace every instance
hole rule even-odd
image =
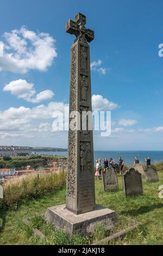
[[[151,159],[150,157],[148,156],[147,158],[145,158],[145,161],[147,163],[147,166],[150,166],[151,165]],[[114,159],[110,158],[110,160],[108,161],[108,159],[105,157],[103,159],[103,165],[104,165],[104,171],[107,169],[107,168],[113,168],[115,169],[116,168],[116,162]],[[134,163],[135,164],[138,164],[139,163],[139,159],[137,159],[137,157],[135,156],[135,160],[134,160]],[[118,159],[118,163],[117,163],[117,167],[120,171],[120,175],[122,175],[122,172],[123,172],[123,167],[124,167],[124,161],[122,160],[122,157],[119,157]],[[96,173],[95,173],[95,176],[97,179],[99,179],[99,177],[101,176],[101,172],[102,172],[102,164],[101,164],[101,159],[98,159],[96,160]]]

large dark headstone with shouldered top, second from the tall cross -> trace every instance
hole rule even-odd
[[[143,194],[141,174],[134,168],[130,168],[122,175],[124,194],[126,197]]]

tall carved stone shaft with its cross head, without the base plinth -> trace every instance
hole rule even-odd
[[[71,48],[70,113],[92,111],[90,49],[87,42],[94,32],[85,28],[86,17],[78,13],[75,21],[68,20],[66,32],[76,35]],[[69,122],[72,118],[70,115]],[[87,127],[87,126],[86,126]],[[68,174],[66,208],[75,214],[95,210],[95,180],[92,130],[68,131]]]

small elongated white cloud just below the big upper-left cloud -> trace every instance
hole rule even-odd
[[[44,90],[36,95],[34,84],[28,83],[26,80],[22,79],[11,81],[3,88],[3,91],[10,92],[12,95],[17,96],[18,99],[23,99],[33,103],[52,99],[54,96],[52,90]]]

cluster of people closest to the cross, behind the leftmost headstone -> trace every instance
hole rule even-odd
[[[108,161],[108,159],[105,157],[103,159],[103,165],[104,165],[104,171],[109,167],[115,169],[116,162],[112,158],[110,158],[110,160]],[[120,170],[120,175],[122,175],[123,166],[124,166],[124,161],[122,160],[122,157],[119,157],[117,165]],[[102,172],[101,159],[98,159],[96,160],[96,173],[95,173],[95,176],[97,177],[97,179],[99,179],[99,177],[101,176],[101,172]]]

